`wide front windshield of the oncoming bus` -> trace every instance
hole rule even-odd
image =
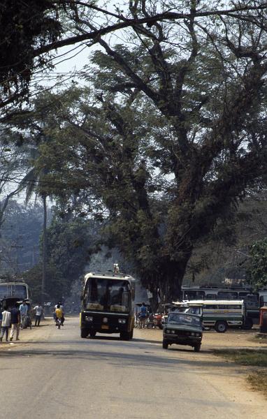
[[[90,278],[85,287],[84,304],[87,310],[129,312],[129,282]]]

